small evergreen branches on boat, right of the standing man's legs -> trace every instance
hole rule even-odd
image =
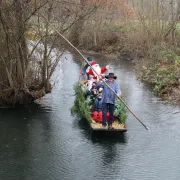
[[[125,124],[126,119],[128,117],[127,110],[124,104],[119,99],[117,99],[116,101],[115,114],[119,123]]]

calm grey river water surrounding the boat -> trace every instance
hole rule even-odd
[[[109,64],[129,107],[150,131],[129,114],[124,135],[90,133],[84,121],[71,115],[80,67],[68,54],[51,94],[0,110],[0,180],[180,179],[180,108],[137,81],[130,62]]]

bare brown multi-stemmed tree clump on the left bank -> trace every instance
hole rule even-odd
[[[70,28],[84,21],[75,11],[83,4],[77,0],[0,3],[0,105],[27,103],[51,91],[50,78],[65,47],[52,26],[70,34]],[[35,42],[29,43],[28,38]],[[55,47],[61,52],[55,52]],[[38,51],[42,55],[39,59],[34,55]]]

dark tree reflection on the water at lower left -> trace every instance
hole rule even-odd
[[[0,179],[26,179],[31,172],[34,159],[30,151],[37,146],[34,145],[33,138],[43,139],[47,133],[50,137],[52,132],[47,110],[50,111],[50,108],[44,109],[41,105],[32,103],[1,111]],[[39,132],[44,132],[44,135],[40,137]]]

